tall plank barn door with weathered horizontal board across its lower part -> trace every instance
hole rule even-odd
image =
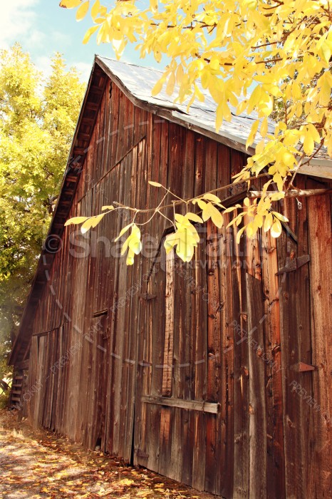
[[[220,359],[208,337],[206,247],[199,245],[190,263],[173,252],[165,258],[142,304],[134,462],[215,492]],[[219,344],[220,331],[214,333]]]

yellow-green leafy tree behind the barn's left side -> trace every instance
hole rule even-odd
[[[0,52],[0,357],[14,338],[58,197],[84,85],[61,54],[43,76],[19,44]],[[0,361],[0,379],[8,367]]]

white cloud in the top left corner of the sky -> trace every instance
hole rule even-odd
[[[36,14],[33,6],[39,0],[9,0],[1,2],[0,48],[9,48],[15,41],[31,36]]]

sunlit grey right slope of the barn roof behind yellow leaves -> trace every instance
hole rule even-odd
[[[175,88],[172,96],[166,93],[165,86],[157,96],[151,96],[152,88],[162,76],[162,71],[100,56],[96,56],[96,61],[112,80],[115,79],[128,98],[136,105],[142,106],[143,104],[144,106],[145,104],[149,110],[155,110],[155,113],[158,115],[164,115],[165,118],[171,121],[197,130],[202,135],[208,135],[218,140],[218,142],[229,145],[234,149],[242,150],[244,153],[254,152],[253,148],[249,148],[249,151],[247,151],[245,145],[251,125],[258,117],[256,113],[251,113],[251,115],[246,113],[237,115],[235,108],[230,106],[232,122],[224,121],[219,132],[216,133],[217,104],[202,86],[199,86],[199,89],[204,94],[204,102],[196,100],[188,110],[186,103],[180,104],[175,102],[177,88]],[[275,123],[269,120],[269,133],[274,133],[274,127]],[[260,138],[258,133],[256,137],[257,141]],[[318,169],[315,167],[318,167]],[[332,178],[332,160],[328,157],[326,150],[320,150],[315,158],[311,160],[311,165],[303,167],[301,173]]]

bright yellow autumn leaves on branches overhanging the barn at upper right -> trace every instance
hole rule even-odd
[[[165,88],[190,106],[195,99],[204,101],[199,89],[204,88],[217,104],[217,130],[224,120],[232,120],[231,106],[238,114],[254,113],[247,139],[253,153],[235,180],[250,182],[264,168],[271,180],[259,200],[245,200],[243,212],[231,224],[244,222],[238,241],[244,230],[248,237],[257,230],[270,230],[278,237],[286,219],[272,209],[272,203],[283,197],[287,178],[309,163],[318,149],[326,148],[332,158],[331,2],[118,0],[111,7],[104,3],[61,0],[63,7],[78,7],[79,20],[91,7],[93,26],[83,43],[98,31],[97,42],[111,43],[118,58],[126,44],[135,41],[142,58],[149,53],[157,62],[162,56],[169,58],[152,95]],[[276,99],[284,107],[284,118],[269,133],[268,118]],[[267,191],[271,182],[279,191],[276,195]],[[194,200],[202,220],[211,219],[217,227],[223,224],[219,201],[204,196]],[[165,242],[167,251],[176,248],[185,261],[199,240],[192,222],[189,214],[175,219],[175,232]],[[137,251],[140,243],[135,234]]]

